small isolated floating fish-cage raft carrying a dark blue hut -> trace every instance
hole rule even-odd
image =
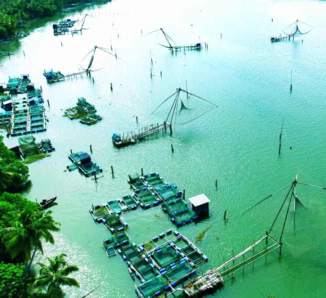
[[[88,153],[79,151],[71,153],[68,158],[73,162],[72,165],[68,165],[69,171],[77,169],[86,177],[101,173],[103,170],[95,162],[91,161],[91,157]]]

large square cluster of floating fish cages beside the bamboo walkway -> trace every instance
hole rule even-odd
[[[133,260],[124,250],[120,250],[122,258],[141,282],[136,286],[139,297],[158,296],[191,282],[197,275],[197,266],[208,260],[189,239],[173,229],[138,245],[132,252]]]

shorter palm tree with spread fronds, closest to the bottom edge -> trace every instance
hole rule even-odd
[[[35,290],[33,293],[46,292],[49,298],[63,298],[65,296],[62,290],[62,285],[77,286],[79,283],[75,278],[67,277],[70,273],[78,271],[76,265],[68,265],[65,253],[56,255],[54,259],[47,257],[49,265],[38,262],[40,267],[40,274],[36,276],[34,282]]]

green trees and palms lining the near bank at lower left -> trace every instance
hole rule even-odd
[[[44,210],[20,192],[31,185],[29,168],[9,150],[0,136],[0,298],[63,298],[62,286],[80,287],[69,275],[79,270],[59,253],[47,263],[33,263],[37,251],[44,254],[43,243],[54,244],[52,232],[60,223],[52,210]],[[48,156],[30,156],[29,162]]]

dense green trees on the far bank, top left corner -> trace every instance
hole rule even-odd
[[[25,22],[51,17],[63,9],[111,0],[0,0],[0,40],[17,36]]]

